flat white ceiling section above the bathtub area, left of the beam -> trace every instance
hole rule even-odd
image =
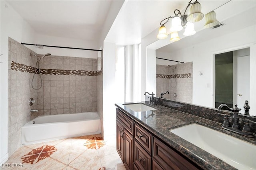
[[[111,0],[8,0],[38,34],[97,41]]]

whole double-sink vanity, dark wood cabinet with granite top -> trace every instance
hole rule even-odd
[[[214,113],[208,108],[202,107],[200,110],[199,106],[160,98],[157,100],[160,104],[156,106],[149,105],[148,101],[115,104],[116,149],[127,170],[241,169],[172,133],[173,129],[191,124],[202,125],[249,144],[251,155],[245,155],[242,149],[238,159],[252,158],[243,167],[256,169],[256,139],[222,129],[222,123],[218,122],[223,120],[222,111]],[[194,114],[186,113],[191,112],[191,109]],[[207,115],[206,112],[213,113]],[[220,148],[234,150],[229,145]]]

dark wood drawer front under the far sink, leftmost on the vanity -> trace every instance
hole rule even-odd
[[[124,126],[124,128],[133,136],[133,120],[126,116],[125,113],[118,108],[116,108],[116,118]]]

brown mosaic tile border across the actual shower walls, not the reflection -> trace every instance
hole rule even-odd
[[[12,70],[17,70],[17,71],[22,71],[22,72],[34,73],[36,68],[12,61],[11,62],[11,69]],[[39,74],[38,69],[36,69],[36,74]],[[100,71],[86,71],[86,70],[60,70],[60,69],[40,68],[40,74],[98,76],[98,75],[102,74],[102,70],[100,70]]]

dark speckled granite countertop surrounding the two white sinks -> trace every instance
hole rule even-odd
[[[129,104],[134,103],[130,102]],[[148,103],[148,102],[141,102]],[[128,104],[128,103],[126,103]],[[242,135],[236,135],[232,132],[226,131],[221,128],[222,124],[217,123],[215,121],[210,121],[208,119],[204,119],[198,116],[194,116],[188,113],[184,113],[181,111],[177,111],[174,109],[170,109],[164,106],[152,106],[156,110],[153,111],[141,111],[134,112],[131,109],[128,109],[123,104],[115,104],[119,109],[124,111],[129,117],[141,123],[146,129],[151,131],[154,135],[165,141],[168,145],[178,150],[184,156],[198,164],[201,168],[211,170],[211,169],[227,169],[227,170],[235,170],[233,166],[230,166],[226,162],[220,160],[216,156],[206,152],[205,150],[196,147],[192,143],[178,137],[174,133],[171,133],[170,130],[182,127],[184,125],[189,125],[191,123],[197,123],[204,125],[206,127],[210,127],[211,129],[221,131],[223,133],[232,135],[234,137],[238,137],[242,140],[246,140],[249,143],[256,145],[255,139],[247,139],[242,137]],[[154,114],[153,116],[151,114]],[[228,146],[227,146],[228,147]],[[232,149],[232,148],[231,148]],[[246,156],[246,155],[245,155]]]

